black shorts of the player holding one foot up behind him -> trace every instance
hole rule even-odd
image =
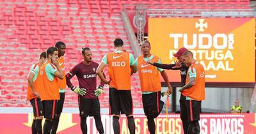
[[[156,118],[163,110],[164,102],[161,99],[161,92],[142,94],[143,110],[147,117]]]

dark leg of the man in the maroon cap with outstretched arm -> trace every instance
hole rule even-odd
[[[188,111],[186,108],[186,96],[180,94],[180,119],[182,121],[184,134],[188,134]]]

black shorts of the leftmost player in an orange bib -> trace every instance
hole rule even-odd
[[[33,107],[34,117],[39,117],[44,115],[44,107],[40,98],[33,98],[29,101]]]

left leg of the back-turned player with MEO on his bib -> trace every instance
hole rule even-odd
[[[120,100],[118,91],[109,88],[109,114],[113,115],[113,130],[115,134],[120,133],[119,114],[120,114]]]

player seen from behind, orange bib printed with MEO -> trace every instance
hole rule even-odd
[[[131,134],[135,133],[135,123],[132,115],[131,74],[136,73],[134,56],[124,50],[124,42],[116,38],[115,52],[110,52],[102,58],[97,68],[97,75],[104,84],[109,84],[109,114],[113,115],[113,130],[120,133],[119,116],[125,114]],[[110,80],[106,80],[102,70],[108,64]]]

